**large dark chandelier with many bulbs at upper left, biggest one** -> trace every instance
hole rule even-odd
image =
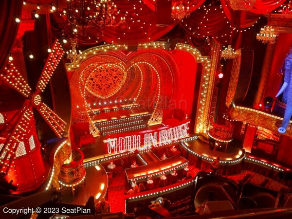
[[[68,22],[72,25],[75,33],[78,27],[82,29],[83,34],[85,34],[87,26],[121,26],[122,29],[128,27],[125,17],[121,17],[120,21],[115,20],[115,16],[120,12],[111,0],[67,1],[67,11],[64,9],[63,14],[67,16]]]

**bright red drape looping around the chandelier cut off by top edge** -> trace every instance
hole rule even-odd
[[[220,0],[226,17],[232,21],[237,27],[250,27],[256,23],[261,14],[272,12],[278,8],[285,0],[261,0],[256,1],[254,7],[250,11],[234,11],[229,4],[229,1]],[[240,20],[240,21],[237,21]]]

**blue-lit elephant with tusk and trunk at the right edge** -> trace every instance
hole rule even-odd
[[[284,91],[283,100],[284,102],[287,101],[287,107],[284,114],[284,119],[282,122],[281,127],[278,128],[280,133],[285,133],[286,128],[290,122],[290,118],[292,116],[292,48],[288,55],[285,58],[285,73],[284,73],[284,83],[277,93],[276,97],[281,95]]]

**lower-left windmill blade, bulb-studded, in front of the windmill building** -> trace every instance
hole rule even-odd
[[[18,123],[14,126],[10,135],[6,139],[6,142],[2,148],[0,148],[0,163],[1,172],[7,173],[10,164],[15,158],[15,152],[19,142],[23,141],[27,131],[29,130],[28,124],[33,118],[33,111],[29,107],[25,107],[18,119]]]

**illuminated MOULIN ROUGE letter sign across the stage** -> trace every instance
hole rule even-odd
[[[107,139],[108,152],[125,153],[135,150],[145,150],[152,146],[158,147],[171,144],[173,141],[188,136],[189,120],[184,120],[175,126],[166,126],[154,130],[145,130],[141,132],[131,133],[127,136],[113,136]]]

